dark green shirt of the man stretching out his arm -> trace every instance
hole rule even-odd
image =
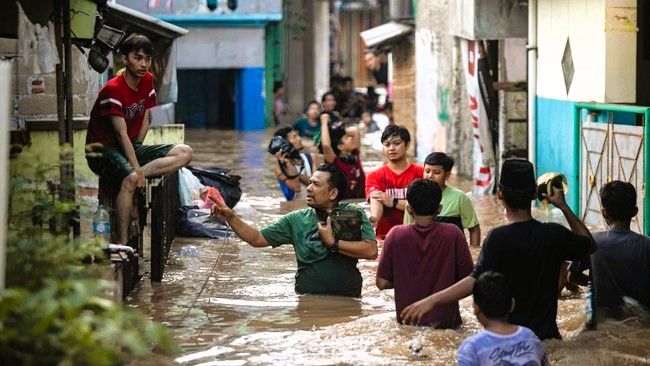
[[[360,210],[363,220],[361,239],[377,240],[361,207],[341,203],[339,208]],[[274,248],[282,244],[293,245],[298,262],[297,293],[361,296],[357,259],[327,249],[318,235],[318,218],[312,208],[293,211],[260,231]]]

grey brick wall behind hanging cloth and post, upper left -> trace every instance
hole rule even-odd
[[[13,60],[12,100],[10,105],[16,107],[12,111],[12,120],[17,122],[14,122],[11,127],[24,126],[25,119],[56,119],[55,73],[44,74],[44,91],[30,95],[27,85],[29,70],[25,66],[23,58],[17,56],[17,52],[17,40],[0,38],[0,55],[12,57]],[[87,56],[83,55],[74,46],[72,48],[72,57],[72,89],[74,93],[72,104],[74,116],[87,116],[90,114],[93,103],[97,98],[99,74],[90,69],[86,60]]]

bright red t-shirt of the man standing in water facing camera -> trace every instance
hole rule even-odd
[[[406,188],[415,179],[422,178],[424,168],[421,165],[411,163],[408,168],[400,174],[393,172],[388,165],[368,174],[366,178],[366,198],[370,197],[373,191],[388,193],[391,197],[399,200],[406,199]],[[404,211],[384,206],[384,214],[377,223],[377,238],[383,239],[388,230],[395,225],[404,222]]]

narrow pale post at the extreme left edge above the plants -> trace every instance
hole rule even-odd
[[[11,63],[0,61],[0,187],[9,187],[9,99],[11,97]],[[0,193],[0,288],[5,287],[8,191]]]

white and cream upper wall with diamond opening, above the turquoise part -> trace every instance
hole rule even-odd
[[[635,13],[633,0],[548,0],[538,3],[537,95],[546,98],[633,103],[636,93],[636,33],[621,30],[607,12]],[[614,10],[612,10],[614,9]],[[612,20],[614,19],[614,20]],[[636,21],[636,19],[634,19]],[[616,23],[616,24],[614,24]],[[609,24],[609,28],[608,28]],[[571,43],[574,76],[567,95],[562,55]]]

